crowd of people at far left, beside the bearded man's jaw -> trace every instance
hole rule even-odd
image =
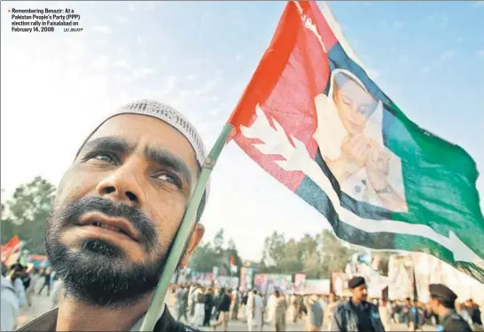
[[[52,307],[59,303],[61,282],[50,268],[39,269],[20,263],[8,268],[2,265],[1,276],[2,331],[11,331],[16,327],[22,309],[33,305],[34,294],[51,297]]]

